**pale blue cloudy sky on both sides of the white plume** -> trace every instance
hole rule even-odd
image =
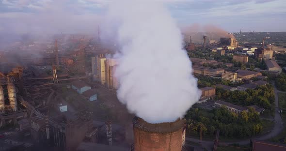
[[[95,32],[112,1],[0,0],[0,32]],[[159,1],[180,27],[212,24],[229,32],[286,31],[286,0]]]

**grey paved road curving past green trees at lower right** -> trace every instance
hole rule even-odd
[[[275,85],[274,85],[275,86]],[[271,130],[270,133],[265,134],[263,136],[255,136],[252,137],[252,139],[257,139],[257,140],[267,140],[270,139],[274,136],[279,135],[282,130],[283,130],[283,121],[282,118],[280,116],[280,114],[278,113],[278,93],[282,92],[276,89],[276,87],[274,88],[275,91],[275,116],[274,116],[274,120],[275,120],[275,125],[274,128]],[[191,138],[191,137],[186,137],[186,140],[190,140],[196,143],[200,143],[199,139],[196,138]],[[240,145],[246,145],[248,143],[250,143],[250,138],[249,139],[244,139],[244,140],[240,140],[240,141],[236,141],[236,142],[219,142],[220,145],[227,145],[227,144],[240,144]],[[214,142],[213,141],[202,141],[202,147],[205,147],[207,149],[207,151],[211,151],[211,148],[213,147]]]

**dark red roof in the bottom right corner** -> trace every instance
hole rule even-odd
[[[286,145],[252,140],[252,149],[253,151],[286,151]]]

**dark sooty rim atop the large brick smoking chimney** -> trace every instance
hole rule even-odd
[[[185,119],[178,119],[174,122],[162,122],[162,123],[148,123],[139,117],[133,118],[133,126],[151,133],[172,133],[176,132],[184,127],[186,123]]]

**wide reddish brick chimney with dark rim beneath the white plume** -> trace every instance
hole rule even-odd
[[[185,120],[148,123],[139,117],[133,119],[135,151],[182,151]]]

